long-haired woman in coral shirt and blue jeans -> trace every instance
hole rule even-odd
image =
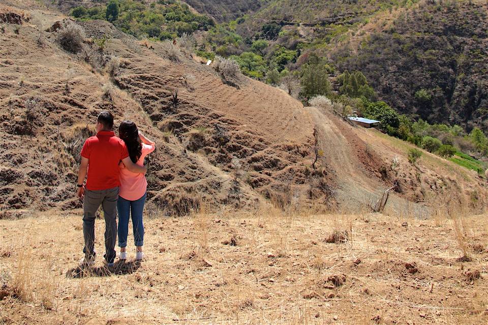
[[[144,166],[144,157],[153,152],[155,143],[148,140],[131,121],[124,121],[118,127],[118,136],[124,140],[129,157],[134,164]],[[130,172],[123,163],[120,163],[120,191],[117,201],[118,211],[118,246],[120,259],[127,259],[127,234],[129,232],[129,215],[132,217],[132,230],[134,232],[134,245],[136,246],[136,260],[144,257],[142,245],[144,243],[144,224],[142,211],[146,200],[147,181],[144,174]]]

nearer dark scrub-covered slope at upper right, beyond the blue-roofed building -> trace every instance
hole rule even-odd
[[[333,53],[338,68],[360,70],[381,98],[430,123],[488,130],[486,5],[426,1],[402,13],[359,50]]]

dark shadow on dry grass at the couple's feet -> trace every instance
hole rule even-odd
[[[68,278],[86,278],[92,276],[112,276],[112,275],[125,275],[136,272],[141,267],[140,262],[130,261],[126,262],[119,259],[114,263],[113,267],[80,267],[68,270],[66,277]]]

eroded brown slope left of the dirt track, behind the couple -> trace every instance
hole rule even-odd
[[[101,110],[113,111],[116,124],[134,119],[158,143],[148,161],[149,201],[168,213],[202,201],[249,208],[263,198],[307,196],[313,124],[281,90],[244,77],[228,85],[214,68],[182,53],[170,60],[166,45],[141,43],[101,21],[81,24],[87,50],[95,47],[90,39],[110,37],[85,62],[84,53],[55,42],[50,26],[63,16],[10,5],[3,10],[26,18],[1,34],[3,210],[80,206],[73,198],[78,153]],[[110,78],[113,56],[120,67]]]

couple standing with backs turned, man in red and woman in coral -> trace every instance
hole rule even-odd
[[[137,129],[134,122],[123,121],[118,135],[113,132],[113,115],[101,112],[96,122],[97,135],[88,138],[81,149],[77,195],[83,199],[83,238],[85,256],[81,266],[95,264],[95,216],[100,205],[105,218],[105,263],[112,267],[118,233],[120,259],[127,259],[129,217],[132,216],[136,260],[143,258],[144,225],[142,211],[147,181],[144,157],[155,143]],[[86,184],[84,180],[86,177]],[[118,211],[118,230],[117,216]]]

